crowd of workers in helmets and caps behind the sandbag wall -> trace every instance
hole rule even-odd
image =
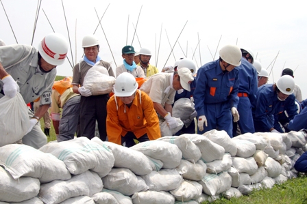
[[[22,141],[34,148],[47,144],[50,126],[45,126],[44,134],[38,121],[49,115],[49,108],[58,142],[75,135],[93,139],[97,126],[102,141],[131,147],[136,141],[160,138],[160,121],[166,121],[171,130],[177,128],[172,111],[181,98],[191,100],[195,110],[174,135],[217,129],[232,138],[247,132],[307,128],[307,100],[302,99],[293,70],[284,69],[276,83],[268,83],[267,70],[249,48],[226,45],[219,50],[219,59],[200,68],[183,58],[159,72],[150,63],[150,49],[137,52],[127,45],[115,75],[110,63],[99,57],[101,47],[95,35],[86,35],[84,57],[73,68],[73,76],[55,82],[55,68],[64,63],[68,50],[62,35],[46,35],[38,48],[2,45],[0,98],[20,92],[25,103],[36,102],[35,112],[29,108],[30,127]],[[116,78],[110,93],[97,95],[86,88],[84,78],[95,65]]]

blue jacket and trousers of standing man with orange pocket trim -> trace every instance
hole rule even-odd
[[[225,130],[232,137],[232,113],[230,108],[238,106],[238,68],[223,72],[219,59],[202,65],[197,72],[194,103],[197,116],[205,115],[203,134],[212,129]]]

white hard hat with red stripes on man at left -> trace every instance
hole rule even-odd
[[[69,45],[60,33],[50,33],[38,44],[40,56],[51,65],[64,63],[68,49]]]

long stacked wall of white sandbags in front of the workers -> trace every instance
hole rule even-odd
[[[0,147],[0,203],[201,203],[297,177],[306,134],[225,131],[127,148],[95,137]]]

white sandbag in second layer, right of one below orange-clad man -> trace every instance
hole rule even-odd
[[[182,177],[175,169],[161,169],[151,171],[148,175],[141,176],[147,184],[149,190],[169,191],[180,186]]]

